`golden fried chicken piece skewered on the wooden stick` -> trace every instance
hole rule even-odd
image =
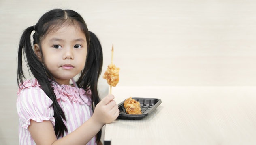
[[[119,70],[114,64],[109,64],[103,78],[107,80],[110,86],[115,87],[119,82]]]

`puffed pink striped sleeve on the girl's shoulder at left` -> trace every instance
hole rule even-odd
[[[49,120],[55,125],[51,99],[40,88],[40,85],[33,80],[31,83],[24,83],[25,86],[19,89],[17,95],[17,112],[22,122],[22,127],[28,129],[30,120],[43,122]]]

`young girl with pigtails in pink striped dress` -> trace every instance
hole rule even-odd
[[[23,82],[22,54],[35,77],[32,81]],[[18,52],[20,144],[100,143],[102,126],[119,114],[113,95],[100,101],[97,82],[101,69],[100,42],[77,12],[54,9],[28,27]],[[77,74],[80,77],[75,82]]]

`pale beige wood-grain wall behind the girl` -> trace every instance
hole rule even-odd
[[[53,8],[83,16],[101,41],[103,71],[114,44],[119,86],[256,85],[252,0],[0,0],[1,145],[18,144],[19,38]],[[107,92],[105,80],[99,89]]]

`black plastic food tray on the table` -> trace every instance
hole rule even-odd
[[[151,114],[161,103],[161,99],[156,98],[139,98],[134,97],[136,101],[139,101],[141,104],[141,113],[142,114],[127,114],[124,108],[124,101],[118,104],[118,108],[120,110],[119,119],[128,119],[128,120],[141,120],[143,117]]]

